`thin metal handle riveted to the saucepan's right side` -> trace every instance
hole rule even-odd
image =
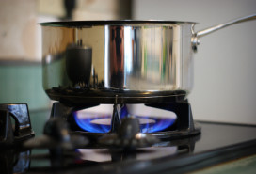
[[[221,28],[225,28],[229,25],[232,25],[232,24],[238,24],[238,23],[242,23],[242,22],[246,22],[246,21],[250,21],[250,20],[256,20],[256,14],[252,14],[252,15],[249,15],[249,16],[246,16],[246,17],[242,17],[242,18],[238,18],[238,19],[235,19],[235,20],[232,20],[228,23],[224,23],[224,24],[217,24],[215,26],[212,26],[210,28],[206,28],[206,29],[203,29],[203,30],[200,30],[198,32],[194,32],[194,24],[192,25],[192,38],[191,38],[191,42],[192,42],[192,49],[194,52],[197,52],[198,50],[198,45],[200,44],[200,40],[198,40],[200,37],[203,37],[205,35],[208,35],[214,31],[217,31]]]

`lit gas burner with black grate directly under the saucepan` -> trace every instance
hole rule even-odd
[[[120,134],[118,133],[120,120],[131,116],[139,120],[140,133],[151,134],[160,139],[176,139],[200,134],[200,127],[194,123],[191,107],[187,101],[178,100],[172,103],[147,103],[143,105],[147,108],[142,110],[156,109],[165,112],[163,118],[136,115],[129,110],[129,105],[133,104],[125,103],[114,103],[112,113],[107,111],[100,117],[99,114],[95,113],[86,113],[85,116],[80,117],[81,112],[98,105],[99,103],[78,106],[54,103],[51,117],[61,117],[67,120],[71,125],[72,134],[83,134],[94,140],[105,134]],[[170,117],[170,113],[174,113],[177,118]]]

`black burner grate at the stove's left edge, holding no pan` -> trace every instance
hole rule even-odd
[[[0,147],[19,146],[34,135],[27,104],[0,104]]]

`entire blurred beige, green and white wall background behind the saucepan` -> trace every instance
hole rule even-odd
[[[198,22],[196,30],[256,13],[255,0],[1,0],[0,103],[50,107],[41,84],[40,25],[61,20]],[[195,54],[194,119],[256,124],[256,21],[219,30]]]

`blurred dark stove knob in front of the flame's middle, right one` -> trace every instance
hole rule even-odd
[[[156,136],[140,133],[138,119],[134,117],[122,119],[118,133],[106,134],[99,139],[101,144],[123,150],[148,147],[157,142]]]

